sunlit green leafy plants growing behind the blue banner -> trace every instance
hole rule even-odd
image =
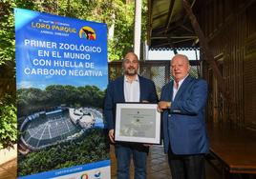
[[[108,39],[108,60],[120,60],[133,48],[133,0],[1,0],[0,1],[0,149],[17,140],[15,41],[13,8],[38,10],[114,27]],[[146,37],[146,0],[142,5],[142,41]]]

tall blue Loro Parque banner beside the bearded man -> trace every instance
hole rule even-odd
[[[110,178],[106,24],[15,9],[19,178]]]

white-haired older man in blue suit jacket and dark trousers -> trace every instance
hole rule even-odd
[[[161,89],[164,151],[168,153],[172,179],[203,179],[208,139],[204,121],[207,84],[189,76],[187,56],[171,61],[174,80]]]

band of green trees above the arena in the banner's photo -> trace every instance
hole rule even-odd
[[[61,96],[61,97],[60,97]],[[42,89],[18,89],[18,116],[27,116],[34,112],[54,109],[59,105],[67,107],[93,107],[102,109],[104,91],[96,86],[73,87],[51,85]],[[22,121],[19,121],[22,123]]]

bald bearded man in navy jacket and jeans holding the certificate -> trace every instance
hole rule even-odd
[[[148,146],[137,143],[115,142],[116,104],[118,102],[157,103],[158,97],[153,81],[138,75],[139,59],[134,52],[128,52],[123,59],[124,75],[108,85],[104,116],[109,129],[109,138],[115,144],[117,158],[117,179],[129,179],[129,168],[133,156],[135,179],[146,178],[146,156]]]

